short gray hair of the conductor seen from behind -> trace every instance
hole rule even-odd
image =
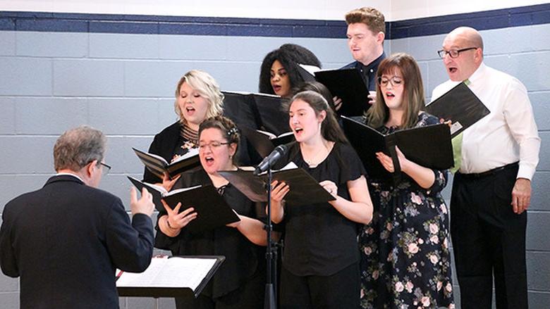
[[[67,130],[54,145],[54,168],[78,171],[93,160],[101,162],[105,153],[106,137],[86,125]]]

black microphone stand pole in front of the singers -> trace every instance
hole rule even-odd
[[[266,248],[266,260],[267,260],[267,280],[265,284],[265,298],[264,309],[276,309],[276,260],[277,260],[277,248],[273,243],[271,232],[273,232],[273,224],[271,223],[271,166],[267,170],[267,224],[265,229],[267,231],[267,248]]]

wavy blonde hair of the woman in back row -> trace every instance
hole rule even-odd
[[[208,101],[208,110],[204,119],[223,113],[224,94],[220,92],[218,82],[216,82],[214,77],[207,72],[190,70],[185,73],[178,82],[178,86],[176,87],[176,101],[173,103],[174,111],[176,111],[176,115],[178,115],[182,123],[185,123],[186,120],[183,118],[180,106],[178,105],[178,96],[180,95],[181,85],[184,82],[188,83],[191,88],[197,90],[197,92]]]

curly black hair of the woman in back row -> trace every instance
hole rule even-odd
[[[259,92],[264,94],[275,94],[271,87],[271,76],[269,71],[274,61],[278,60],[283,68],[285,68],[288,78],[291,81],[291,88],[298,87],[304,79],[298,72],[298,63],[315,65],[321,68],[321,62],[317,56],[309,49],[296,44],[283,44],[279,49],[269,52],[264,61],[262,68],[259,71]]]

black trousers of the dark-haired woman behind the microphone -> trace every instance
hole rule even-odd
[[[281,309],[359,308],[359,263],[331,276],[296,276],[281,267]]]

